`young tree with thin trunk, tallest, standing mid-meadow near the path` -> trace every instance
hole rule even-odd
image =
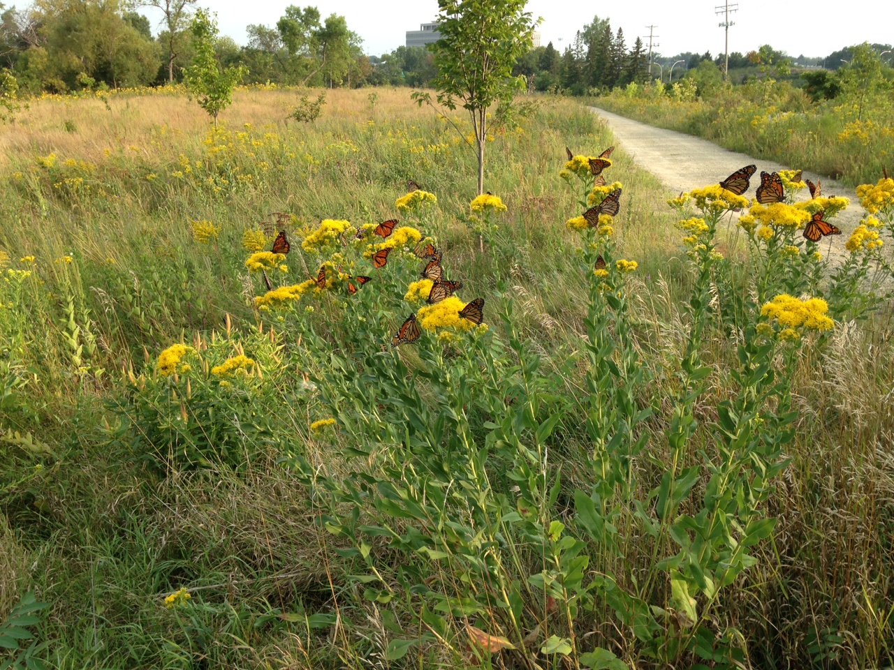
[[[438,102],[468,111],[478,156],[478,194],[485,192],[487,110],[510,101],[526,82],[512,78],[512,67],[531,49],[534,23],[527,0],[438,0],[438,32],[432,45],[439,74],[432,84]],[[417,95],[426,102],[426,94]]]

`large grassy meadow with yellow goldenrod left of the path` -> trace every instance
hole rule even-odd
[[[451,125],[377,93],[313,124],[243,90],[217,130],[181,96],[0,129],[0,624],[33,591],[58,668],[889,666],[867,242],[894,195],[842,270],[772,219],[728,232],[717,194],[669,208],[617,151],[620,214],[576,230],[608,189],[564,147],[611,136],[544,97],[488,147],[507,211],[475,212]],[[409,179],[437,204],[399,211]],[[392,217],[486,328],[454,308],[389,347],[415,233],[378,271],[348,238]],[[246,258],[281,228],[271,281],[327,263],[326,288],[258,306]],[[834,329],[762,316],[780,293]]]

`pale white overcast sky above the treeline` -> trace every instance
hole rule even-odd
[[[431,21],[437,14],[436,0],[198,0],[217,13],[221,33],[245,44],[249,23],[273,26],[288,4],[313,4],[320,13],[344,15],[348,27],[363,38],[367,54],[381,55],[405,43],[407,30]],[[528,11],[543,17],[540,26],[543,44],[552,41],[562,50],[575,32],[593,21],[594,14],[608,18],[611,28],[624,29],[628,46],[637,36],[648,36],[648,24],[657,26],[657,51],[666,56],[684,51],[712,54],[723,52],[721,17],[714,15],[719,0],[529,0]],[[797,56],[823,56],[843,46],[863,41],[890,42],[890,16],[883,19],[881,7],[894,13],[887,0],[848,0],[844,5],[830,0],[811,3],[780,0],[740,0],[736,22],[730,29],[730,52],[743,54],[762,44]],[[148,10],[144,10],[149,13]],[[874,20],[871,18],[874,17]],[[157,15],[150,14],[157,20]],[[157,29],[157,27],[156,27]]]

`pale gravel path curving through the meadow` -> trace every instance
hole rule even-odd
[[[673,196],[680,191],[719,183],[728,174],[735,172],[743,165],[755,163],[757,171],[751,178],[751,188],[745,194],[755,197],[755,188],[761,183],[760,172],[779,172],[790,170],[786,165],[763,161],[749,155],[718,147],[706,139],[685,135],[676,130],[655,128],[646,123],[633,121],[624,116],[606,112],[598,107],[590,107],[591,112],[598,115],[614,133],[618,146],[633,157],[645,170],[652,172],[665,184]],[[836,180],[822,177],[815,172],[804,171],[805,177],[822,180],[824,196],[844,196],[850,198],[850,205],[844,212],[835,217],[834,222],[844,234],[835,236],[833,251],[844,251],[844,243],[851,230],[863,216],[863,209],[856,200],[853,188],[849,188]],[[804,191],[806,193],[806,191]],[[803,198],[803,197],[802,197]],[[842,225],[843,224],[843,225]]]

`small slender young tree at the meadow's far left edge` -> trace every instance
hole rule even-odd
[[[198,105],[217,125],[217,115],[232,103],[232,89],[245,75],[245,68],[223,68],[217,61],[217,21],[207,10],[199,9],[190,26],[196,46],[196,57],[187,68],[185,81],[190,92],[198,97]]]

